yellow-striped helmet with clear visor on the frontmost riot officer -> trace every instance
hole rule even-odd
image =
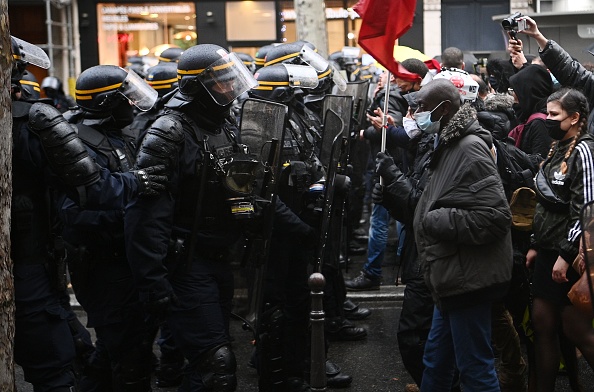
[[[231,104],[257,85],[235,53],[214,44],[200,44],[184,51],[177,65],[177,78],[179,91],[186,100],[197,98],[219,106]]]

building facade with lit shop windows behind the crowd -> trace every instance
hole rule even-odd
[[[322,1],[322,0],[320,0]],[[357,46],[357,0],[326,0],[328,53]],[[156,58],[168,45],[215,43],[255,54],[272,42],[296,39],[293,0],[9,0],[11,32],[40,45],[53,63],[47,72],[74,80],[96,64],[124,66],[132,57]],[[512,11],[532,16],[543,33],[580,61],[594,45],[594,0],[418,0],[413,27],[400,45],[433,57],[456,46],[488,57],[505,54],[500,21]],[[525,40],[529,53],[536,53]],[[38,78],[44,71],[34,70]],[[46,73],[46,74],[47,74]]]

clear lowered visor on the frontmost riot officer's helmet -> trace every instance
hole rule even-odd
[[[229,53],[209,65],[198,75],[198,79],[221,106],[258,85],[254,75],[235,53]]]

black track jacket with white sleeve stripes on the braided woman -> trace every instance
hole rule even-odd
[[[572,139],[559,142],[539,173],[548,178],[553,192],[568,204],[559,209],[539,198],[533,223],[535,247],[554,249],[568,263],[578,254],[582,232],[580,211],[584,204],[594,199],[594,136],[584,134],[580,137],[567,159],[567,172],[562,174],[561,163],[571,142]]]

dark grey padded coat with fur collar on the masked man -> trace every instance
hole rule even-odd
[[[462,106],[440,132],[416,207],[419,259],[441,310],[500,299],[511,279],[511,212],[491,140]]]

